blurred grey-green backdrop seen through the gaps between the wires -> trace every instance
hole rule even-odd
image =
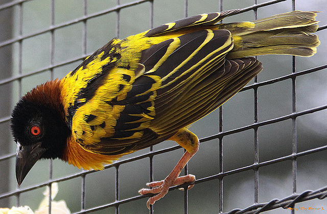
[[[0,5],[8,1],[1,0]],[[99,13],[114,8],[116,0],[88,0],[86,15]],[[120,0],[120,4],[127,4],[132,0]],[[157,26],[185,16],[184,0],[154,0],[153,25]],[[258,4],[268,1],[259,0]],[[325,0],[296,0],[297,10],[322,11],[317,19],[320,24],[327,24],[327,4]],[[253,0],[225,0],[223,10],[244,8],[253,5]],[[55,0],[54,25],[69,22],[84,15],[84,5],[81,0]],[[151,4],[145,2],[133,7],[120,10],[119,38],[146,31],[150,28]],[[292,9],[292,1],[278,3],[258,9],[258,18],[288,12]],[[21,4],[23,36],[49,29],[51,26],[51,0],[26,1]],[[188,15],[197,15],[219,11],[218,0],[189,0]],[[19,36],[19,6],[1,10],[0,42]],[[64,28],[54,30],[54,52],[51,55],[51,33],[46,32],[0,48],[2,56],[1,79],[33,71],[44,71],[21,79],[21,91],[25,94],[38,84],[51,78],[62,78],[69,71],[77,67],[81,61],[68,63],[53,69],[53,73],[46,69],[49,65],[60,64],[71,59],[83,57],[84,53],[91,54],[111,38],[116,37],[116,12],[87,19],[86,28],[83,22],[77,22]],[[253,20],[253,11],[228,17],[224,22]],[[12,24],[11,24],[12,23]],[[83,47],[83,32],[86,31],[86,49]],[[6,36],[6,32],[12,32]],[[325,51],[327,50],[327,31],[317,33],[321,41],[318,53],[311,58],[296,58],[296,71],[302,71],[327,64]],[[4,38],[2,38],[4,37]],[[19,52],[21,48],[21,62]],[[4,59],[9,58],[9,59]],[[290,74],[292,72],[291,56],[260,56],[264,70],[259,74],[259,82],[271,78]],[[11,63],[6,63],[11,62]],[[20,64],[21,63],[21,64]],[[297,112],[327,104],[327,70],[320,70],[296,78],[296,110]],[[252,84],[253,81],[250,83]],[[1,117],[10,116],[10,112],[17,102],[19,94],[18,80],[2,84]],[[290,79],[275,84],[259,87],[259,122],[281,117],[292,113],[292,82]],[[254,122],[253,90],[238,93],[223,105],[223,130],[243,127]],[[305,151],[326,144],[327,139],[327,111],[300,116],[296,119],[297,151]],[[199,138],[215,135],[219,131],[219,112],[215,111],[191,126],[191,131]],[[11,154],[15,151],[15,143],[11,138],[10,123],[0,123],[0,155]],[[163,142],[154,146],[160,150],[175,146],[174,142]],[[147,153],[149,149],[124,156],[122,159]],[[218,139],[204,142],[200,150],[189,163],[189,172],[197,179],[219,173],[219,142]],[[154,179],[164,179],[173,169],[183,154],[182,149],[154,156]],[[264,162],[273,158],[292,154],[292,120],[273,123],[259,127],[259,161]],[[254,131],[228,135],[223,138],[223,167],[224,171],[253,164],[254,162]],[[306,190],[316,190],[326,186],[327,151],[314,153],[297,158],[297,193]],[[1,182],[0,194],[14,191],[17,188],[14,170],[14,158],[0,162]],[[53,162],[53,178],[80,172],[79,169],[61,161]],[[120,199],[138,195],[137,191],[145,187],[149,181],[149,159],[141,159],[119,168]],[[182,172],[183,173],[183,172]],[[42,183],[49,178],[49,162],[40,161],[30,171],[21,188]],[[114,202],[115,200],[115,169],[91,173],[86,176],[86,208]],[[234,208],[245,208],[254,202],[254,172],[246,171],[224,177],[223,180],[223,211]],[[59,183],[59,193],[55,200],[65,200],[72,212],[81,209],[81,178],[75,178]],[[189,213],[218,213],[219,181],[212,180],[199,183],[189,191]],[[44,188],[22,193],[20,205],[29,205],[35,210],[41,199]],[[275,198],[285,198],[292,194],[292,162],[285,161],[259,169],[259,203],[268,202]],[[155,203],[155,213],[183,213],[183,198],[181,191],[172,191],[162,200]],[[120,205],[120,213],[148,213],[147,199],[137,200]],[[296,206],[321,207],[326,205],[324,200],[311,200]],[[17,204],[15,196],[0,200],[0,207]],[[327,206],[326,206],[327,208]],[[107,208],[95,213],[115,213],[114,208]],[[284,209],[268,211],[267,213],[289,213]],[[305,212],[305,213],[310,213]],[[312,213],[318,213],[313,211]]]

